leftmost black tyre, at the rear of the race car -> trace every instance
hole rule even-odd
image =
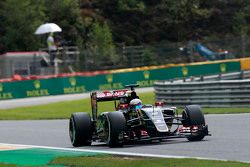
[[[92,142],[92,121],[88,113],[73,113],[69,121],[69,136],[74,147],[89,146]]]

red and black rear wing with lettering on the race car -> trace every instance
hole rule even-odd
[[[102,91],[102,92],[91,92],[91,108],[92,108],[92,117],[95,121],[97,119],[97,102],[101,101],[114,101],[119,100],[121,97],[124,97],[127,93],[127,89],[123,90],[112,90],[112,91]]]

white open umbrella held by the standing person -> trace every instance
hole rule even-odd
[[[45,23],[40,25],[37,29],[35,34],[46,34],[50,32],[61,32],[62,29],[55,23]]]

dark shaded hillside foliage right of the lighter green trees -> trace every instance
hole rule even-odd
[[[100,13],[109,20],[114,41],[127,45],[224,37],[236,34],[238,27],[245,27],[244,31],[249,33],[250,1],[119,0],[114,4],[106,0],[103,5],[100,2],[96,0],[93,4],[98,4]],[[139,2],[143,2],[143,10],[132,10]],[[237,13],[244,15],[247,24]]]

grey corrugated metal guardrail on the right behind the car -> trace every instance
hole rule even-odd
[[[247,72],[249,74],[249,71]],[[246,73],[245,73],[246,74]],[[199,104],[202,107],[250,107],[250,79],[218,80],[237,78],[241,74],[203,77],[202,80],[158,81],[154,84],[156,99],[174,106]],[[209,78],[205,81],[205,78]]]

